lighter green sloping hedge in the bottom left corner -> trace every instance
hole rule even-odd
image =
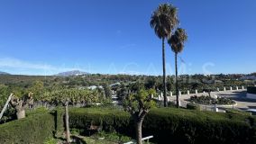
[[[52,137],[54,116],[49,112],[38,112],[22,120],[10,121],[0,125],[1,144],[41,144]]]

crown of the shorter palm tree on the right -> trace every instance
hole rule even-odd
[[[178,28],[168,40],[171,50],[179,53],[184,49],[184,43],[187,41],[187,32],[184,29]]]

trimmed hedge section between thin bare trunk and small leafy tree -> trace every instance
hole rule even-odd
[[[129,135],[133,130],[130,121],[128,112],[117,109],[71,108],[69,110],[70,128],[83,129],[86,132],[90,125],[96,125],[107,132],[117,131]]]

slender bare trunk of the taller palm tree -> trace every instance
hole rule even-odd
[[[167,102],[167,88],[166,88],[166,70],[165,70],[165,48],[164,48],[164,38],[162,38],[162,72],[163,72],[163,102],[164,102],[164,107],[167,107],[168,102]]]

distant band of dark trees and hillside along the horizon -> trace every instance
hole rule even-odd
[[[222,90],[224,86],[247,86],[256,84],[253,80],[242,80],[242,76],[247,75],[181,75],[178,76],[178,87],[181,92],[187,92],[187,90],[198,90],[203,92],[206,87],[211,87],[216,90],[217,87]],[[167,76],[167,89],[174,92],[174,76]],[[0,90],[3,86],[6,86],[9,90],[21,91],[36,85],[40,87],[40,83],[43,84],[45,89],[50,90],[56,87],[66,88],[86,88],[90,85],[111,85],[114,83],[121,83],[117,85],[119,88],[122,85],[128,85],[134,82],[142,83],[147,89],[154,88],[156,90],[163,91],[162,89],[162,76],[130,76],[130,75],[86,75],[86,76],[15,76],[15,75],[0,75]],[[0,93],[2,97],[7,97],[9,93]],[[0,101],[1,101],[0,99]],[[1,103],[1,102],[0,102]]]

